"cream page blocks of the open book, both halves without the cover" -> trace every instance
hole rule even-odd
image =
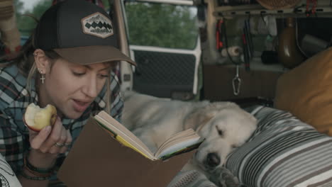
[[[101,111],[95,115],[94,118],[105,130],[109,131],[118,142],[121,142],[127,147],[131,147],[136,152],[139,152],[144,157],[151,160],[169,159],[177,154],[196,149],[201,142],[203,142],[203,139],[201,139],[194,130],[188,129],[172,135],[158,147],[157,152],[153,153],[138,137],[121,123],[118,123],[118,121],[112,118],[108,113]]]

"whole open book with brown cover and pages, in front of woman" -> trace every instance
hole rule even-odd
[[[57,178],[70,187],[167,186],[201,142],[194,130],[184,130],[153,153],[121,123],[100,112],[87,120]]]

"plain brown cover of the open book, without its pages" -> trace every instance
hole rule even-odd
[[[57,177],[68,187],[162,187],[170,183],[194,152],[152,161],[122,145],[90,117]]]

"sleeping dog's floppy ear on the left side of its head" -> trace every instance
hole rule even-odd
[[[214,118],[216,113],[214,111],[206,111],[206,107],[199,108],[193,113],[187,115],[184,119],[184,129],[192,128],[197,130],[199,126],[207,123],[211,118]]]

